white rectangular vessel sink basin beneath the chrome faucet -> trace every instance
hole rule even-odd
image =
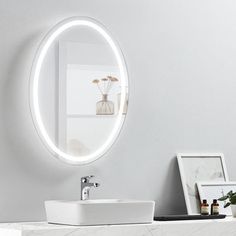
[[[154,207],[154,201],[118,199],[45,202],[48,223],[66,225],[151,223]]]

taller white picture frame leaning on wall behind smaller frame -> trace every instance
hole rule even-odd
[[[222,153],[178,153],[177,161],[189,215],[200,214],[197,182],[228,182]]]

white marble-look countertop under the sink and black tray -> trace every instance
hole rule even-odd
[[[236,218],[155,221],[152,224],[67,226],[46,222],[1,223],[0,236],[236,236]]]

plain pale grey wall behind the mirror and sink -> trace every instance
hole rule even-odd
[[[184,213],[175,154],[223,152],[236,180],[234,0],[0,0],[0,221],[44,220],[46,199],[77,199],[94,174],[94,198],[155,199]],[[123,49],[130,107],[104,158],[83,167],[52,157],[34,130],[28,79],[35,50],[57,22],[100,20]]]

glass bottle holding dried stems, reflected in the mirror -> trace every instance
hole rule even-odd
[[[114,103],[108,100],[108,95],[103,94],[102,100],[96,104],[97,115],[114,115]]]

